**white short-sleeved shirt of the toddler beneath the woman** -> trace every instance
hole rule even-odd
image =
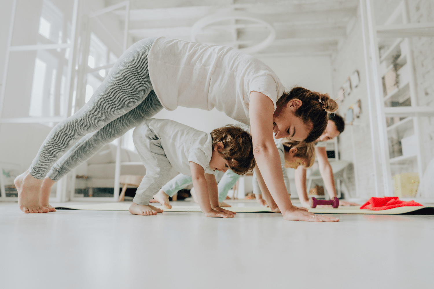
[[[171,166],[183,175],[191,176],[189,162],[200,165],[205,173],[215,174],[210,169],[213,151],[210,133],[196,130],[174,120],[149,118],[144,121],[158,137]]]

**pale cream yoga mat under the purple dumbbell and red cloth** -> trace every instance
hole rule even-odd
[[[56,207],[58,210],[93,210],[93,211],[128,211],[130,203],[104,203],[104,204],[85,204],[85,205],[64,205]],[[161,206],[156,206],[162,208]],[[166,212],[201,212],[198,206],[172,206],[171,209],[164,209]],[[237,213],[272,213],[270,208],[265,207],[230,207],[225,208]],[[315,208],[309,212],[317,214],[414,214],[432,215],[434,207],[398,207],[382,211],[360,210],[358,206],[339,207],[339,208]]]

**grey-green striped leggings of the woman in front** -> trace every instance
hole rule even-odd
[[[33,177],[48,176],[57,182],[106,143],[163,108],[148,71],[147,55],[155,39],[143,39],[128,48],[89,102],[53,127],[30,166]]]

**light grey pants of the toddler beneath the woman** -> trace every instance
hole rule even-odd
[[[146,168],[146,174],[133,199],[137,205],[148,205],[149,200],[171,179],[172,166],[164,153],[161,141],[145,122],[133,132],[133,141]]]

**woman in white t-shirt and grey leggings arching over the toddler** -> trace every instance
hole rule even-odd
[[[339,221],[291,204],[272,136],[313,142],[327,126],[327,111],[337,110],[335,101],[305,88],[285,92],[271,68],[237,49],[164,37],[133,44],[89,102],[51,130],[30,168],[15,179],[20,209],[53,210],[49,192],[63,175],[163,107],[178,106],[216,107],[250,125],[256,175],[285,220]]]

